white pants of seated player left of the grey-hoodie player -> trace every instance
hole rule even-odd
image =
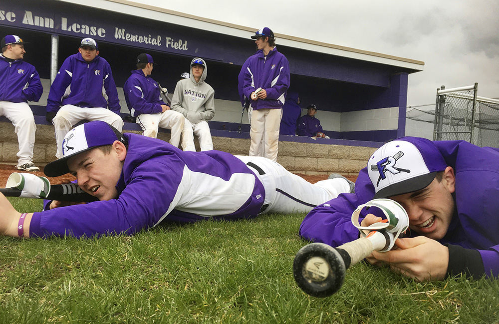
[[[142,127],[142,135],[152,138],[158,137],[158,128],[171,129],[170,144],[179,147],[180,134],[184,129],[184,115],[178,111],[166,110],[156,114],[140,114],[136,123]]]

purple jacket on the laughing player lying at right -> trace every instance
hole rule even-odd
[[[466,141],[434,142],[447,165],[454,168],[457,214],[440,243],[478,250],[485,274],[499,275],[499,149],[478,147]],[[333,247],[355,240],[358,230],[351,223],[357,206],[374,197],[367,168],[360,171],[354,194],[341,194],[315,207],[300,226],[307,240]]]

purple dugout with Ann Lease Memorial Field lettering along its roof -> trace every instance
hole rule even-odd
[[[77,52],[81,38],[92,37],[111,64],[122,112],[128,111],[122,86],[139,53],[153,55],[159,64],[152,76],[170,93],[192,57],[203,57],[207,82],[215,89],[216,114],[210,122],[214,136],[249,137],[246,113],[243,133],[236,131],[242,111],[237,76],[255,51],[250,39],[255,30],[128,0],[2,0],[0,4],[0,34],[18,34],[29,42],[24,59],[42,78],[42,99],[30,103],[35,113],[43,114],[50,79],[62,61]],[[279,51],[289,60],[290,90],[299,92],[302,107],[314,103],[320,109],[318,117],[331,137],[318,139],[321,143],[348,140],[349,145],[356,141],[365,145],[404,135],[408,75],[421,71],[424,62],[273,30]],[[280,140],[313,141],[286,135]]]

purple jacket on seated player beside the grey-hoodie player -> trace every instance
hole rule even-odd
[[[123,86],[126,104],[132,116],[155,114],[163,111],[161,105],[167,105],[161,99],[158,83],[142,70],[133,70]]]

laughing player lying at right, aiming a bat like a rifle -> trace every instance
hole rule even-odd
[[[399,202],[409,238],[367,260],[417,280],[499,275],[499,149],[465,141],[402,137],[383,145],[360,171],[355,193],[314,208],[300,235],[333,247],[358,238],[355,208],[373,198]],[[362,226],[379,222],[366,215]]]

